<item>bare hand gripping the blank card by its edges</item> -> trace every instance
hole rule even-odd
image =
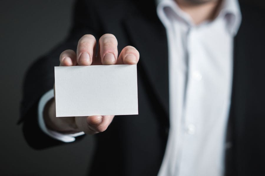
[[[138,50],[132,46],[126,46],[118,57],[117,45],[118,42],[114,35],[104,34],[99,39],[99,49],[96,54],[95,37],[93,35],[84,35],[78,41],[76,53],[73,50],[65,50],[61,53],[60,66],[138,63],[140,57]],[[95,134],[102,132],[107,129],[113,118],[113,115],[56,117],[54,99],[51,99],[44,108],[44,121],[47,128],[61,133],[84,131],[87,134]]]

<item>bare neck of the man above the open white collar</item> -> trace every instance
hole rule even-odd
[[[221,6],[222,0],[192,3],[187,0],[175,0],[181,10],[188,13],[193,22],[198,25],[206,20],[213,20]]]

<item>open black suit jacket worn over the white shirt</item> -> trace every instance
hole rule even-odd
[[[232,147],[226,150],[226,175],[256,175],[265,173],[264,11],[243,3],[240,6],[243,20],[234,39],[227,128]],[[105,132],[95,135],[97,147],[90,175],[157,175],[168,138],[169,92],[167,36],[155,2],[80,0],[75,7],[68,38],[38,59],[25,77],[20,119],[24,136],[37,149],[62,144],[39,129],[38,101],[53,88],[54,66],[63,50],[76,50],[84,34],[99,39],[112,33],[119,51],[132,45],[140,52],[139,115],[116,116]]]

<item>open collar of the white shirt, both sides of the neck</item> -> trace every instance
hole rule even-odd
[[[175,12],[175,14],[181,16],[181,18],[183,18],[187,23],[191,23],[190,16],[187,13],[183,12],[174,0],[156,0],[156,4],[158,16],[164,19],[164,25],[170,23],[170,21],[168,21],[168,16],[166,16],[165,14],[165,8],[171,8],[171,10]],[[216,19],[222,17],[225,18],[227,22],[227,29],[231,33],[231,35],[236,35],[242,18],[238,0],[223,0],[221,10]]]

